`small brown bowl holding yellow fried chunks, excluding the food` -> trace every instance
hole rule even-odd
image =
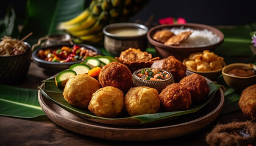
[[[188,59],[185,58],[185,60],[183,60],[183,64],[185,65],[185,62],[187,61]],[[226,66],[226,63],[224,64],[223,68]],[[222,69],[223,68],[220,68],[220,69],[217,69],[215,71],[193,71],[191,69],[188,69],[188,71],[191,71],[191,72],[194,72],[196,74],[199,74],[199,75],[202,75],[204,77],[207,77],[209,78],[210,80],[215,80],[216,78],[219,77],[219,75],[221,75],[221,72],[222,72]]]

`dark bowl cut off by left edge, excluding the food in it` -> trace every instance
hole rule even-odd
[[[31,46],[24,42],[29,48],[26,52],[18,55],[0,57],[0,83],[15,85],[26,80],[31,61]]]

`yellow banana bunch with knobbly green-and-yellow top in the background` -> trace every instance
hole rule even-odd
[[[69,21],[59,24],[80,42],[97,43],[104,38],[102,29],[107,24],[126,22],[149,0],[92,0],[87,9]]]

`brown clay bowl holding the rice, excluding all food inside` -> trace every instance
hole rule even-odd
[[[218,43],[215,44],[210,44],[208,46],[203,46],[203,47],[180,47],[180,46],[167,46],[163,43],[160,43],[156,40],[153,39],[153,36],[155,32],[163,29],[172,29],[173,27],[184,27],[190,28],[190,29],[195,29],[195,30],[210,30],[214,34],[216,34],[219,37]],[[147,34],[149,43],[151,43],[153,46],[155,46],[155,49],[157,50],[157,54],[159,55],[160,58],[166,58],[169,57],[170,55],[175,56],[178,60],[183,61],[185,58],[187,58],[190,54],[195,53],[195,52],[202,52],[203,50],[210,50],[214,51],[216,47],[221,45],[221,43],[224,40],[224,35],[221,31],[216,29],[215,27],[212,26],[207,26],[204,24],[193,24],[193,23],[187,23],[187,24],[163,24],[160,26],[155,26],[152,29],[149,30]]]

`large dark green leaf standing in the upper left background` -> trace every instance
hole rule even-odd
[[[46,35],[63,33],[57,30],[57,25],[82,13],[84,6],[85,0],[28,0],[27,17],[21,38],[33,32],[26,40],[32,45]]]

